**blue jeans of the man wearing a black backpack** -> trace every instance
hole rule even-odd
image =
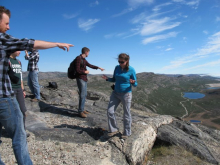
[[[79,89],[79,109],[78,112],[81,113],[84,111],[86,96],[87,96],[87,82],[77,78],[77,86]]]

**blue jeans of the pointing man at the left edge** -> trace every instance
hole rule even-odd
[[[19,165],[32,165],[24,130],[23,115],[14,97],[0,98],[0,127],[2,128],[2,126],[12,139],[12,147],[17,163]],[[4,164],[1,159],[0,164]]]

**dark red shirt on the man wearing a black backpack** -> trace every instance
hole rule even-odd
[[[82,63],[83,60],[83,64]],[[92,68],[92,69],[98,69],[98,66],[95,65],[91,65],[90,63],[88,63],[88,61],[85,58],[82,58],[81,55],[79,55],[78,57],[76,57],[76,72],[77,72],[77,78],[82,79],[84,81],[88,81],[87,79],[87,74],[85,74],[86,66]]]

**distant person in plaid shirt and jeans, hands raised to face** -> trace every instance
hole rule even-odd
[[[28,86],[34,95],[32,101],[36,102],[40,100],[40,85],[38,83],[39,68],[37,66],[40,55],[36,49],[33,49],[30,54],[25,50],[25,53],[25,59],[28,60]]]

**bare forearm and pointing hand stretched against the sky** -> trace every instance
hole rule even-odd
[[[34,49],[49,49],[54,47],[59,47],[60,49],[69,51],[69,48],[74,45],[66,44],[66,43],[58,43],[58,42],[47,42],[47,41],[40,41],[35,40],[34,42]]]

